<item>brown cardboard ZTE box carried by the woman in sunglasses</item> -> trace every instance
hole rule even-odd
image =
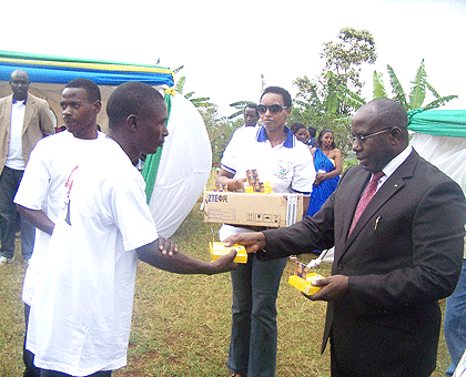
[[[204,222],[288,226],[303,218],[303,195],[204,191]]]

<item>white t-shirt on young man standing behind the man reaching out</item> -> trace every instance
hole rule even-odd
[[[74,137],[63,131],[41,139],[31,152],[14,203],[29,210],[42,210],[52,221],[57,221],[64,183],[78,161],[92,151],[94,144],[104,140],[98,132],[93,140]],[[22,300],[31,305],[36,274],[40,269],[42,253],[49,246],[50,235],[36,228],[32,257],[29,261],[22,289]]]

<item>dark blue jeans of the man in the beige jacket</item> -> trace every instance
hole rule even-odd
[[[0,175],[0,256],[14,256],[17,205],[13,203],[24,171],[4,166]],[[21,253],[26,259],[32,255],[34,226],[21,217]]]

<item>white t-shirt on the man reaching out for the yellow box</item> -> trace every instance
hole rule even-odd
[[[38,367],[87,376],[126,364],[135,248],[158,238],[144,186],[110,139],[70,172],[32,297]]]

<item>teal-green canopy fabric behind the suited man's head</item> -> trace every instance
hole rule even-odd
[[[417,133],[466,137],[466,110],[413,110],[408,129]]]

